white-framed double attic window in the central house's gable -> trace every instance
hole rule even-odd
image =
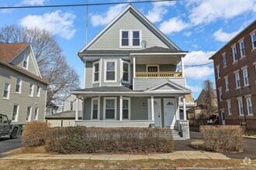
[[[120,47],[140,47],[141,31],[140,30],[121,30]]]

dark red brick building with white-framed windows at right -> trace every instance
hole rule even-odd
[[[256,20],[227,42],[214,61],[220,124],[256,129]]]

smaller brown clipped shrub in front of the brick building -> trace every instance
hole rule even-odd
[[[210,151],[243,151],[244,128],[240,126],[201,126],[204,148]]]

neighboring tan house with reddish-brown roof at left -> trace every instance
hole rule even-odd
[[[43,121],[47,84],[29,43],[0,43],[0,114],[15,124]]]

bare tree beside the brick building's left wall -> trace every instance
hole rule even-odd
[[[204,107],[204,116],[210,117],[213,114],[216,114],[216,91],[213,88],[213,82],[211,80],[205,80],[203,83],[204,90],[204,100],[202,106]]]

